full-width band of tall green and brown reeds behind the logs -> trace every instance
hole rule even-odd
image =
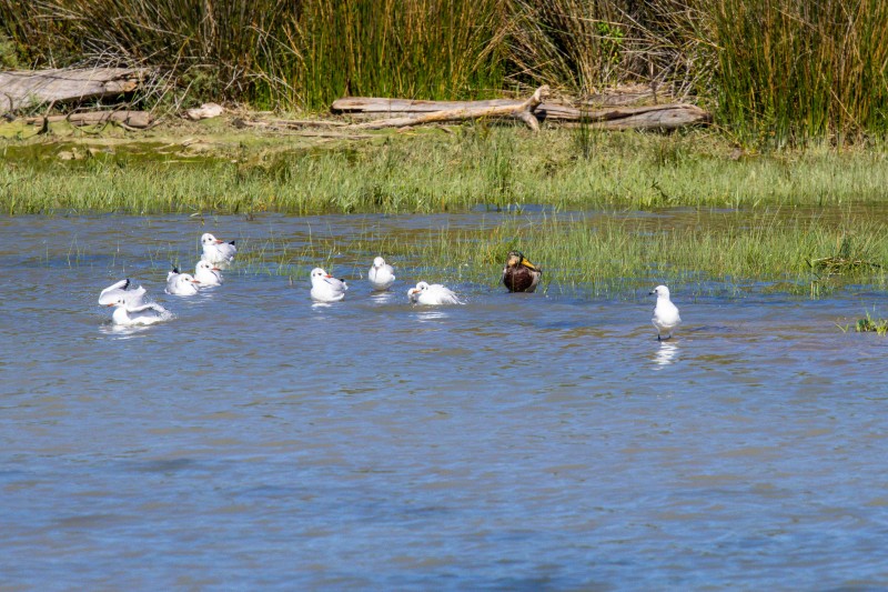
[[[888,130],[884,0],[0,0],[0,63],[150,66],[161,108],[642,83],[746,146]]]

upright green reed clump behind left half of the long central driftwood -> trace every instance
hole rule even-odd
[[[502,0],[305,1],[281,51],[299,102],[343,96],[456,99],[503,86]]]

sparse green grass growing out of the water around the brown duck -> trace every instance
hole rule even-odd
[[[888,261],[888,230],[851,212],[829,219],[784,211],[653,218],[556,213],[494,214],[472,230],[382,233],[367,223],[347,237],[312,229],[307,240],[293,244],[256,238],[243,245],[234,272],[283,275],[297,283],[320,264],[357,280],[382,254],[404,281],[431,278],[497,290],[505,254],[519,249],[543,268],[541,291],[553,294],[632,299],[639,290],[667,283],[688,295],[760,290],[819,298],[847,285],[888,287],[881,267],[829,278],[813,272],[808,261],[834,252],[837,240],[849,235],[874,261]],[[160,268],[167,269],[165,261]]]

